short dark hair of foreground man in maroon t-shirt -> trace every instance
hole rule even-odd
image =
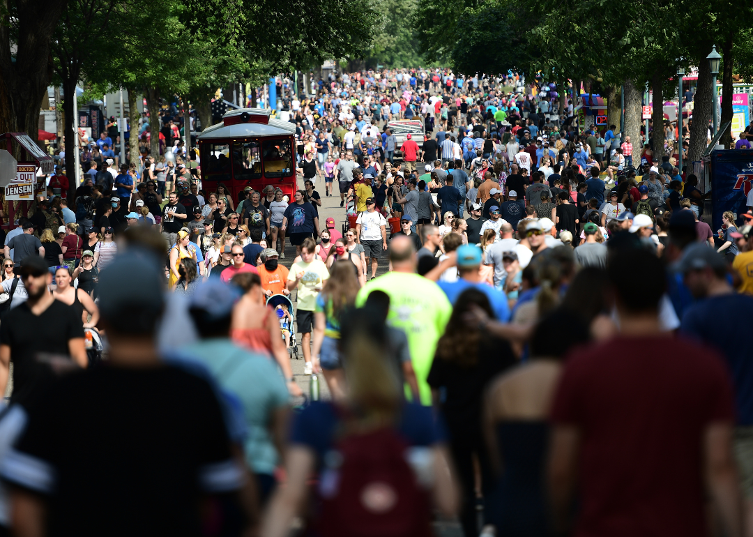
[[[627,245],[618,248],[610,252],[607,273],[615,296],[627,311],[651,313],[659,310],[661,297],[666,292],[666,274],[655,253]],[[641,275],[639,293],[636,293],[636,274]]]

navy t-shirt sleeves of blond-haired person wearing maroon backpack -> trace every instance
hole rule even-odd
[[[316,401],[294,414],[290,443],[309,447],[317,455],[319,465],[334,447],[339,432],[340,416],[330,402]],[[400,435],[409,447],[431,447],[444,441],[444,428],[437,422],[431,407],[405,403],[398,423]]]

